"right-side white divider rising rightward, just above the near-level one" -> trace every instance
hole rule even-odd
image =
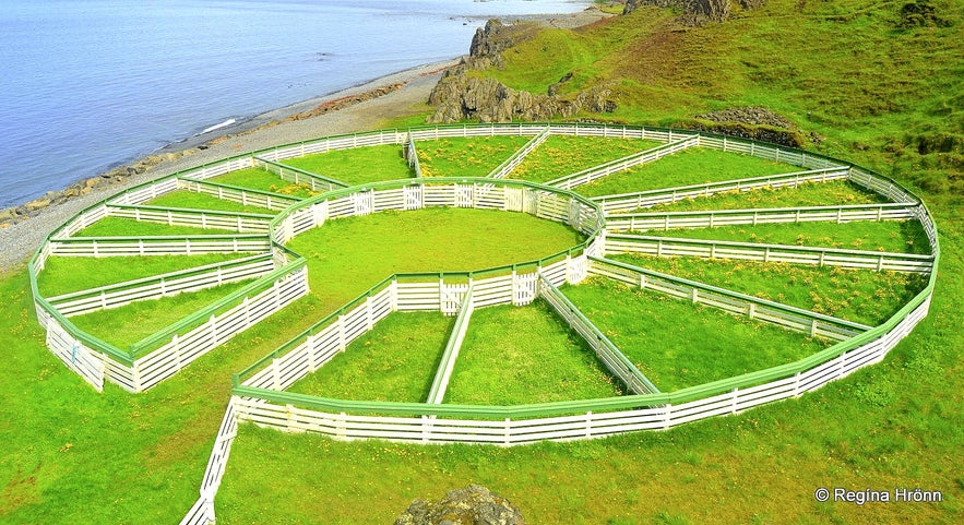
[[[830,168],[810,169],[807,171],[794,171],[789,174],[764,175],[743,179],[724,180],[719,182],[706,182],[702,184],[679,186],[658,190],[646,190],[631,193],[618,193],[590,198],[603,205],[606,214],[632,212],[657,204],[671,204],[674,202],[690,200],[700,196],[711,196],[730,191],[749,192],[760,188],[797,188],[806,183],[831,182],[846,180],[849,177],[848,166],[834,166]]]

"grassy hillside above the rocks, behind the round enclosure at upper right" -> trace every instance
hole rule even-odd
[[[699,27],[641,5],[575,31],[544,29],[505,50],[500,67],[468,74],[533,94],[555,86],[562,98],[605,85],[618,107],[580,115],[596,120],[689,126],[715,110],[764,107],[817,151],[964,194],[964,2],[737,3],[729,20]]]

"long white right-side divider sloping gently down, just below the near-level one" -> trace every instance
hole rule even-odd
[[[876,272],[889,270],[920,274],[930,273],[933,269],[933,255],[915,253],[607,234],[605,255],[620,253],[840,266]]]

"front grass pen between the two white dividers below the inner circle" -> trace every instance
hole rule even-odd
[[[621,394],[579,334],[544,301],[476,310],[445,403],[523,405]]]

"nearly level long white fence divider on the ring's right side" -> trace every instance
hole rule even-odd
[[[714,228],[717,226],[781,223],[849,223],[854,220],[907,220],[917,218],[919,204],[849,204],[840,206],[712,210],[695,212],[648,212],[609,215],[607,231],[647,229]]]

